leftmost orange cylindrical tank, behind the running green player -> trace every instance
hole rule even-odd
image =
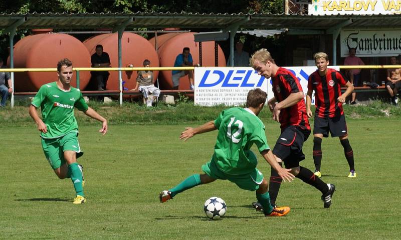
[[[62,33],[42,33],[29,35],[19,40],[14,46],[15,68],[57,67],[60,59],[68,58],[73,67],[90,67],[89,51],[77,38]],[[8,59],[10,65],[10,57]],[[75,73],[75,72],[74,72]],[[90,73],[81,71],[80,88],[89,83]],[[15,90],[37,91],[45,83],[56,81],[56,72],[15,72]],[[76,87],[76,77],[71,85]]]

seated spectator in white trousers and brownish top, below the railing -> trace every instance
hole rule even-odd
[[[143,61],[144,67],[150,66],[150,61],[145,59]],[[142,92],[146,106],[152,106],[152,102],[156,100],[160,95],[160,89],[154,86],[153,71],[151,70],[140,70],[136,77],[136,85],[132,90],[139,90]],[[149,98],[149,94],[153,94],[152,98]]]

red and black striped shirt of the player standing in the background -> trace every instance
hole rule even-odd
[[[341,86],[347,81],[333,68],[327,68],[325,76],[316,70],[308,79],[308,90],[315,91],[316,114],[319,117],[335,117],[344,114],[342,103],[337,100],[341,95]]]

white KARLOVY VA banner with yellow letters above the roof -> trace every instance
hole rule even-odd
[[[364,15],[399,14],[399,0],[312,0],[308,5],[309,15]]]

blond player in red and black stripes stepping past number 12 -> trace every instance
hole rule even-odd
[[[300,166],[300,161],[305,159],[302,146],[311,129],[299,79],[290,70],[276,65],[270,52],[264,48],[252,55],[251,66],[265,78],[271,77],[274,97],[267,103],[270,111],[273,112],[273,120],[281,124],[281,134],[273,148],[276,161],[279,164],[284,162],[285,167],[291,168],[291,173],[297,178],[317,188],[322,193],[323,206],[329,207],[335,186],[325,183],[311,170]],[[269,181],[272,206],[276,204],[281,182],[282,178],[272,168]],[[257,209],[261,207],[258,202],[253,202],[252,206]]]

